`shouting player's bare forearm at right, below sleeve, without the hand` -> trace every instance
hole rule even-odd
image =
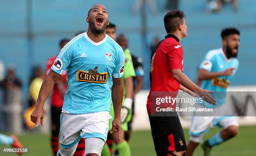
[[[120,112],[121,112],[122,102],[123,102],[123,82],[115,86],[113,85],[111,96],[113,101],[115,118],[120,119]]]

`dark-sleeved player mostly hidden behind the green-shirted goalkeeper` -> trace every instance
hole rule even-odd
[[[144,70],[143,70],[143,61],[141,58],[136,57],[135,55],[132,55],[133,60],[133,68],[135,70],[136,76],[133,77],[133,105],[132,105],[132,116],[131,121],[128,122],[128,131],[125,131],[125,140],[129,141],[131,138],[131,130],[132,130],[132,123],[133,123],[133,116],[134,116],[134,104],[135,104],[135,95],[142,89],[143,87],[143,76],[144,76]]]

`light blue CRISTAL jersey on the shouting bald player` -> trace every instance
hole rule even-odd
[[[108,35],[98,43],[87,33],[69,41],[51,67],[58,74],[67,69],[62,113],[110,111],[113,78],[123,76],[123,65],[123,49]]]

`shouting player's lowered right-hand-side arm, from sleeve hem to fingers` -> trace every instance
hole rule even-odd
[[[118,132],[119,140],[120,133],[122,130],[121,121],[120,121],[120,112],[122,107],[122,101],[123,101],[123,80],[122,78],[113,78],[113,87],[112,87],[112,101],[113,101],[113,108],[115,113],[115,118],[112,122],[112,130],[110,133],[116,133]]]

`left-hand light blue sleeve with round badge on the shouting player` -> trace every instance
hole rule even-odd
[[[74,45],[72,43],[67,43],[55,59],[54,64],[51,66],[51,70],[61,75],[71,63],[73,56]]]

